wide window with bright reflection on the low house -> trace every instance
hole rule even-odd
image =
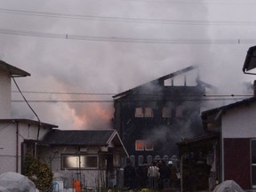
[[[62,155],[61,169],[96,169],[98,156],[93,155]]]

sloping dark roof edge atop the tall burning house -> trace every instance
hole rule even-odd
[[[121,93],[118,93],[116,95],[113,96],[113,99],[116,100],[116,99],[119,99],[119,98],[122,98],[124,96],[126,96],[127,94],[129,94],[130,92],[136,92],[137,90],[141,90],[142,87],[146,87],[147,86],[151,86],[151,85],[159,85],[159,84],[163,84],[164,85],[164,80],[167,80],[167,79],[170,79],[174,76],[179,76],[180,74],[183,74],[183,73],[186,73],[190,70],[193,70],[195,69],[196,67],[195,66],[189,66],[188,68],[183,68],[183,69],[180,69],[174,73],[171,73],[171,74],[168,74],[166,76],[161,76],[153,81],[150,81],[146,84],[141,84],[139,86],[136,86],[128,91],[125,91],[125,92],[121,92]]]

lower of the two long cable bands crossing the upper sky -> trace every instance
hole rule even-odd
[[[59,38],[67,40],[116,42],[136,44],[255,44],[256,39],[167,39],[167,38],[132,38],[117,36],[73,36],[68,34],[52,34],[36,31],[12,30],[0,28],[0,34],[12,36],[34,36],[46,38]]]

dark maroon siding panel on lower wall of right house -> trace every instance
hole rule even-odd
[[[224,139],[224,180],[251,188],[250,139]]]

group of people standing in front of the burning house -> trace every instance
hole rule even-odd
[[[173,188],[177,180],[177,170],[172,164],[172,161],[166,163],[165,161],[159,160],[150,165],[144,162],[136,168],[129,162],[124,167],[125,188],[163,190]]]

